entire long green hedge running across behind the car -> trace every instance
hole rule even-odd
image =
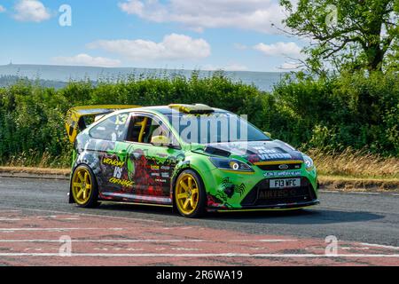
[[[248,114],[274,138],[302,148],[399,155],[397,75],[289,79],[267,93],[221,73],[200,79],[135,78],[117,83],[68,83],[54,90],[20,81],[0,88],[0,163],[69,164],[64,118],[72,106],[204,103]]]

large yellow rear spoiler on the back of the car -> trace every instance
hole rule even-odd
[[[85,130],[88,125],[84,118],[111,114],[117,110],[137,108],[140,106],[119,106],[119,105],[105,105],[105,106],[76,106],[68,110],[66,113],[66,133],[69,141],[74,143],[76,136],[82,130]]]

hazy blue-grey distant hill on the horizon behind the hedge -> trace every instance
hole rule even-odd
[[[212,71],[200,71],[200,77],[212,75]],[[262,91],[270,91],[275,83],[278,83],[285,73],[278,72],[249,72],[235,71],[224,72],[233,81],[254,84]],[[53,66],[53,65],[3,65],[0,66],[0,86],[4,86],[18,77],[29,80],[38,80],[46,86],[60,88],[70,81],[90,80],[97,81],[116,81],[125,79],[129,75],[134,76],[155,76],[173,77],[184,75],[190,77],[192,70],[173,70],[173,69],[145,69],[145,68],[106,68],[106,67],[73,67],[73,66]]]

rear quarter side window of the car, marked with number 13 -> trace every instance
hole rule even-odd
[[[117,114],[107,118],[104,122],[98,123],[90,130],[93,138],[122,141],[128,130],[129,114]]]

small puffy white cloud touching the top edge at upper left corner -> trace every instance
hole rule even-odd
[[[41,22],[49,20],[51,14],[43,3],[37,0],[20,0],[14,7],[14,19],[20,21]]]

